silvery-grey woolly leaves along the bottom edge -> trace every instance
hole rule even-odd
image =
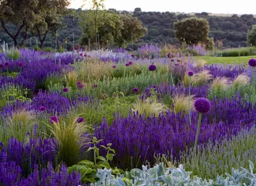
[[[214,180],[205,180],[198,176],[191,177],[191,172],[185,171],[182,165],[179,168],[165,168],[163,163],[157,164],[154,168],[143,166],[141,169],[131,169],[126,171],[124,175],[112,176],[111,169],[99,169],[97,183],[92,186],[100,185],[207,185],[207,186],[231,186],[231,185],[254,185],[256,182],[256,174],[254,164],[248,161],[250,168],[234,169],[232,173],[226,173],[226,177],[217,176]]]

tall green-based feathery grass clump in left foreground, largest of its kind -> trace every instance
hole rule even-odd
[[[58,142],[59,161],[65,162],[67,166],[76,164],[81,148],[88,143],[85,133],[90,127],[84,122],[77,123],[77,117],[70,118],[68,122],[60,120],[48,126]]]

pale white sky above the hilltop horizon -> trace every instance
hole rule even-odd
[[[80,8],[83,0],[71,0],[70,8]],[[170,12],[198,12],[208,13],[236,13],[256,15],[255,0],[106,0],[106,9],[133,11],[141,8],[142,11],[170,11]]]

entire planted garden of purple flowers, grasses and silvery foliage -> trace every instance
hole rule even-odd
[[[256,59],[242,60],[3,47],[0,185],[256,185]]]

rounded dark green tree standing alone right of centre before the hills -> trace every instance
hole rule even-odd
[[[174,23],[175,36],[188,45],[209,42],[209,23],[204,18],[185,18]]]

